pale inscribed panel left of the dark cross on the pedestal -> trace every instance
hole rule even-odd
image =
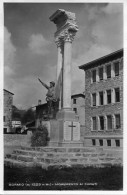
[[[64,122],[64,141],[71,141],[71,121]]]

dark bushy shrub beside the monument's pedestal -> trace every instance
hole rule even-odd
[[[48,130],[46,126],[39,126],[36,131],[34,131],[31,137],[31,146],[47,146],[49,141]]]

